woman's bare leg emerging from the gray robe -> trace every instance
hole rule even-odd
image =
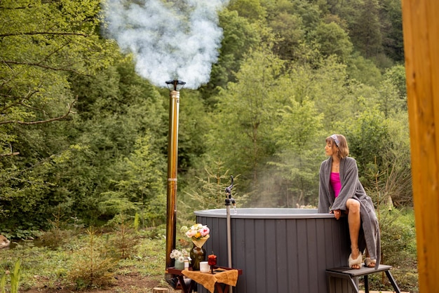
[[[351,257],[357,259],[360,254],[358,249],[358,235],[360,234],[360,202],[353,198],[346,201],[348,212],[349,236],[351,238]],[[352,268],[360,268],[360,265],[353,265]]]

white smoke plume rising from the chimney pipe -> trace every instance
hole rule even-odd
[[[208,83],[222,41],[217,12],[229,0],[107,0],[106,34],[135,55],[137,74],[155,86]]]

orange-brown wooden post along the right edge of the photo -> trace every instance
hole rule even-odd
[[[438,292],[439,1],[402,5],[419,292]]]

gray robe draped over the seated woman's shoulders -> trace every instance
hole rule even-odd
[[[339,172],[342,189],[337,198],[335,198],[334,190],[330,184],[331,168],[332,157],[323,161],[320,165],[318,212],[344,211],[346,210],[346,201],[349,198],[358,200],[360,202],[361,227],[363,229],[363,231],[360,231],[358,246],[360,251],[363,251],[365,246],[367,246],[370,258],[377,260],[375,265],[375,269],[377,269],[381,255],[378,219],[372,200],[367,196],[363,185],[361,185],[358,179],[357,162],[354,158],[350,157],[343,158],[340,161]]]

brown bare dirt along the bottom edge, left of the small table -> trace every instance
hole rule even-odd
[[[155,287],[167,288],[168,293],[180,293],[180,290],[174,290],[170,285],[168,285],[165,281],[165,276],[163,275],[163,279],[161,280],[157,276],[148,277],[140,275],[139,273],[129,273],[128,275],[116,275],[116,282],[113,287],[109,287],[106,289],[88,289],[79,291],[81,293],[148,293],[152,292]],[[44,280],[39,280],[39,285],[28,289],[24,293],[72,293],[78,292],[74,291],[72,288],[64,287],[61,284],[50,286],[44,284]],[[55,287],[55,288],[53,288]]]

